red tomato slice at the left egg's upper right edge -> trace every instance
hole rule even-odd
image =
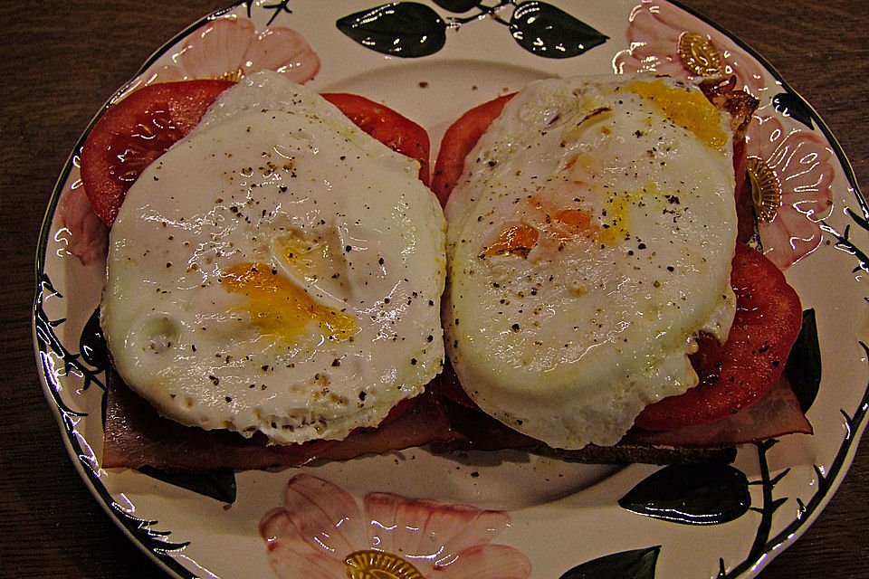
[[[430,145],[428,132],[386,105],[346,92],[324,92],[358,128],[406,157],[419,161],[419,180],[428,185]]]

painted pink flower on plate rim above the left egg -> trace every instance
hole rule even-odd
[[[216,18],[187,37],[172,62],[151,73],[152,82],[188,79],[237,81],[250,71],[278,71],[291,81],[310,81],[320,57],[300,33],[282,26],[257,32],[247,18]]]

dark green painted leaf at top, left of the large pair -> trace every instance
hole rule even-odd
[[[416,2],[379,5],[344,16],[335,25],[366,48],[402,58],[434,54],[446,43],[444,21]]]

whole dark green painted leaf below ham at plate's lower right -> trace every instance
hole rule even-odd
[[[745,514],[751,496],[748,479],[728,464],[674,464],[640,482],[618,504],[682,525],[717,525]]]

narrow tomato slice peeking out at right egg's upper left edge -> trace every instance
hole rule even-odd
[[[450,192],[462,176],[464,157],[468,156],[492,121],[501,114],[507,101],[515,94],[515,92],[505,94],[477,105],[446,129],[441,148],[437,152],[435,175],[432,177],[432,191],[437,195],[441,205],[446,204]]]

